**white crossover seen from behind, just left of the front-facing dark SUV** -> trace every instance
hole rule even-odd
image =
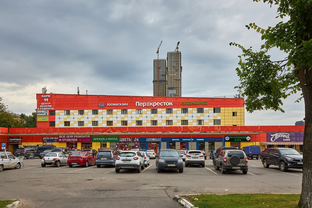
[[[122,151],[115,162],[116,173],[119,173],[120,169],[134,169],[139,173],[144,169],[144,157],[136,150]]]

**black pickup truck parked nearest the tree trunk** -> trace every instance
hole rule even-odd
[[[279,166],[282,172],[288,168],[303,169],[303,155],[292,148],[266,148],[261,152],[261,162],[265,168]]]

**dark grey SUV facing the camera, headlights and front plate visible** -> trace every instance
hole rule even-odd
[[[183,160],[175,149],[160,149],[156,157],[157,172],[162,170],[179,170],[183,173]]]

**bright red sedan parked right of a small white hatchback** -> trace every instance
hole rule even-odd
[[[95,164],[95,156],[90,152],[76,152],[68,157],[67,165],[73,167],[73,165],[89,165]]]

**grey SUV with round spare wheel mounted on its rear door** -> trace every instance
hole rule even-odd
[[[244,151],[222,150],[215,158],[215,169],[221,168],[224,174],[227,170],[240,170],[243,174],[248,171],[248,159]]]

